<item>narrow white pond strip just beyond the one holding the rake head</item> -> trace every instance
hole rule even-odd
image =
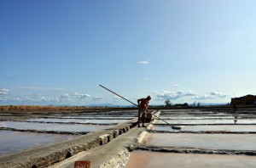
[[[233,117],[234,118],[234,117]],[[235,121],[236,120],[236,121]],[[256,124],[256,119],[233,119],[233,120],[166,120],[169,124],[197,125],[197,124]],[[162,120],[156,120],[155,124],[166,124]]]

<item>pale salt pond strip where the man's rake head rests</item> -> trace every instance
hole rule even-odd
[[[152,126],[151,131],[177,132],[172,126]],[[211,125],[211,126],[182,126],[184,132],[253,132],[256,133],[256,125]]]

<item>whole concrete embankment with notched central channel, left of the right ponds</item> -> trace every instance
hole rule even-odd
[[[137,142],[144,128],[136,119],[73,140],[27,149],[0,157],[0,167],[73,167],[76,160],[89,160],[92,167],[122,167],[129,157],[128,148]]]

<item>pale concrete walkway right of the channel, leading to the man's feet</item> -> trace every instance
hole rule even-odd
[[[63,160],[60,163],[51,166],[51,168],[73,168],[74,162],[78,160],[90,161],[92,168],[125,167],[130,155],[126,147],[131,147],[134,143],[137,143],[139,134],[144,130],[145,128],[138,128],[136,126],[129,132],[113,139],[110,143],[76,154],[67,160]]]

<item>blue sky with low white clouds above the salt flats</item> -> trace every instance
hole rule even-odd
[[[1,0],[0,105],[256,94],[254,0]]]

